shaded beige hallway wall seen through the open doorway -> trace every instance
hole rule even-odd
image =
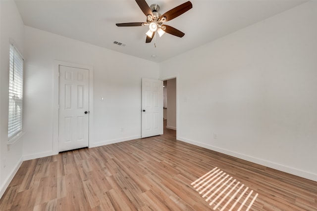
[[[176,78],[167,80],[166,128],[176,129]]]

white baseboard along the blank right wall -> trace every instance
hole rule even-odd
[[[290,174],[293,174],[293,175],[296,175],[296,176],[300,176],[300,177],[303,177],[303,178],[306,178],[306,179],[317,181],[317,174],[312,173],[312,172],[304,171],[304,170],[301,170],[301,169],[295,169],[295,168],[284,166],[284,165],[280,165],[280,164],[277,164],[277,163],[272,163],[272,162],[269,162],[269,161],[266,161],[266,160],[262,160],[262,159],[255,158],[255,157],[252,157],[252,156],[240,154],[240,153],[237,153],[237,152],[234,152],[234,151],[230,151],[230,150],[226,150],[226,149],[223,149],[223,148],[215,147],[215,146],[208,145],[208,144],[205,144],[205,143],[193,141],[193,140],[190,140],[190,139],[187,139],[187,138],[183,138],[183,137],[178,137],[178,140],[184,141],[186,143],[190,143],[190,144],[193,144],[193,145],[196,145],[196,146],[204,147],[206,149],[210,149],[210,150],[213,150],[213,151],[216,151],[216,152],[220,152],[220,153],[223,153],[223,154],[226,154],[226,155],[230,155],[230,156],[233,156],[233,157],[236,157],[236,158],[240,158],[240,159],[243,159],[243,160],[246,160],[246,161],[250,161],[252,163],[260,164],[260,165],[263,165],[265,167],[269,167],[269,168],[272,168],[272,169],[284,171],[284,172],[287,172],[287,173],[290,173]]]

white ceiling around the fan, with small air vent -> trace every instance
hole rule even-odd
[[[147,0],[159,13],[186,0]],[[15,0],[25,25],[101,47],[161,62],[184,51],[299,5],[305,0],[191,0],[193,8],[166,22],[185,33],[164,34],[145,43],[148,27],[117,27],[146,22],[134,0]],[[113,44],[122,42],[126,46]],[[154,45],[156,43],[156,47]],[[152,57],[156,55],[156,57]]]

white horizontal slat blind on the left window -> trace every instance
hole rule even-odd
[[[8,140],[22,132],[23,58],[10,44]]]

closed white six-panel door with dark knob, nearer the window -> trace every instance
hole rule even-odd
[[[59,152],[88,146],[89,70],[59,66]]]

